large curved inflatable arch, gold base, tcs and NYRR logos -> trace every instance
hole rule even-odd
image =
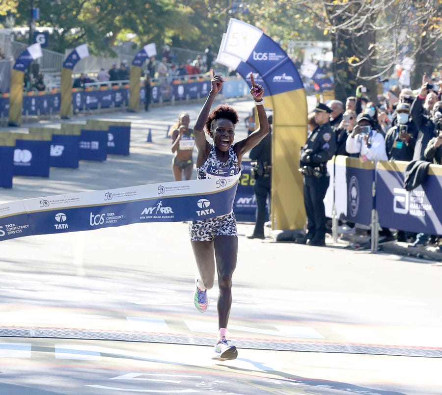
[[[269,36],[230,19],[217,62],[238,72],[250,86],[250,71],[265,89],[274,110],[272,140],[272,229],[301,229],[305,224],[299,151],[307,137],[307,101],[295,65]]]

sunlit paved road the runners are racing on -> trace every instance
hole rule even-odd
[[[235,106],[241,119],[251,108]],[[172,181],[166,129],[199,107],[97,116],[131,120],[130,156],[14,177],[0,202]],[[2,241],[0,395],[442,394],[442,266],[250,240],[252,228],[238,225],[229,332],[239,356],[222,363],[211,360],[216,287],[208,313],[192,305],[187,224]]]

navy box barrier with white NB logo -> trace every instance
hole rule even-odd
[[[50,166],[78,168],[80,160],[80,136],[75,134],[53,134]]]

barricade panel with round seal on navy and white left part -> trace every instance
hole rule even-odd
[[[335,206],[338,219],[371,224],[374,209],[374,162],[338,155],[334,162]]]

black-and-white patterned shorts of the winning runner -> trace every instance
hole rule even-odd
[[[212,241],[217,236],[235,236],[236,218],[233,211],[219,217],[189,222],[189,236],[191,241]]]

